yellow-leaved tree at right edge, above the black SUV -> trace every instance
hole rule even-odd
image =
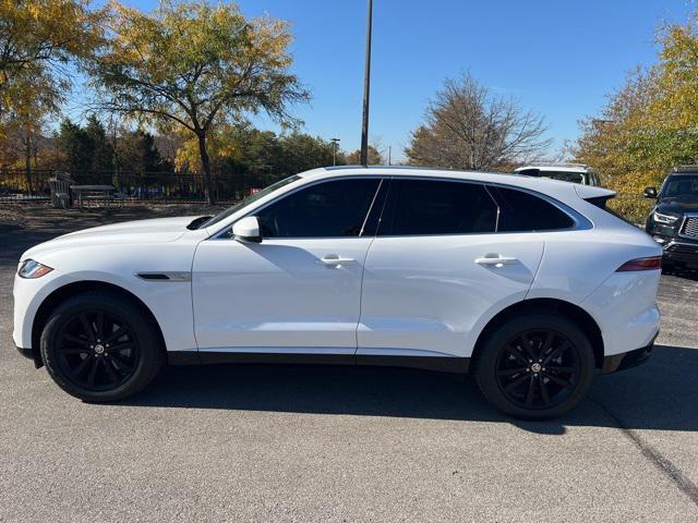
[[[698,12],[659,35],[658,62],[628,74],[601,114],[581,121],[573,148],[622,194],[639,195],[672,167],[698,162]],[[614,205],[634,219],[648,210],[637,198]]]

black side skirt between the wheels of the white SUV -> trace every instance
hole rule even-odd
[[[469,357],[386,356],[347,354],[282,354],[219,351],[172,351],[167,353],[170,365],[276,364],[276,365],[362,365],[409,367],[440,373],[467,374]]]

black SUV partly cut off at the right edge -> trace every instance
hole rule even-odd
[[[645,197],[657,199],[645,230],[664,248],[664,266],[698,268],[698,166],[674,169]]]

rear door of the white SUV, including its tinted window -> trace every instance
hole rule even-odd
[[[365,262],[359,356],[470,356],[477,336],[524,300],[544,241],[496,232],[484,185],[395,178]]]

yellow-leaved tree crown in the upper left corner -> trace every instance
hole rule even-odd
[[[57,109],[68,65],[101,42],[103,14],[87,0],[0,0],[0,125],[32,105]]]

